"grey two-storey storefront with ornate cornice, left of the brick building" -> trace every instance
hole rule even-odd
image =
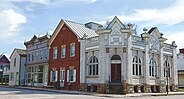
[[[47,86],[49,38],[48,34],[41,37],[34,35],[30,41],[24,43],[27,54],[25,72],[27,86]]]

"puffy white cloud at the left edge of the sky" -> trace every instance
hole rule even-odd
[[[18,35],[20,25],[27,22],[24,15],[17,13],[12,9],[1,11],[0,20],[0,35],[3,35],[0,40],[16,37],[16,35]]]

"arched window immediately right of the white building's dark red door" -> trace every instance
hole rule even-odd
[[[142,75],[141,74],[141,69],[142,69],[142,63],[141,63],[141,59],[138,56],[135,56],[133,58],[133,75]]]

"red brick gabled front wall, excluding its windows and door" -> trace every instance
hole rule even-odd
[[[75,56],[70,57],[70,43],[75,43]],[[65,58],[61,58],[61,46],[66,45],[66,56]],[[57,59],[53,59],[53,47],[57,47],[58,54]],[[48,84],[49,86],[59,87],[60,82],[60,68],[65,68],[65,87],[67,90],[78,90],[80,85],[80,43],[78,41],[77,36],[64,24],[58,35],[52,42],[49,49],[49,75],[48,75]],[[69,83],[67,82],[67,70],[72,67],[76,69],[76,82]],[[50,71],[52,68],[56,68],[58,71],[58,81],[50,82]],[[69,88],[70,87],[70,88]]]

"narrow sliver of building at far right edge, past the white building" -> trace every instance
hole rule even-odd
[[[178,87],[184,87],[184,48],[178,54]]]

